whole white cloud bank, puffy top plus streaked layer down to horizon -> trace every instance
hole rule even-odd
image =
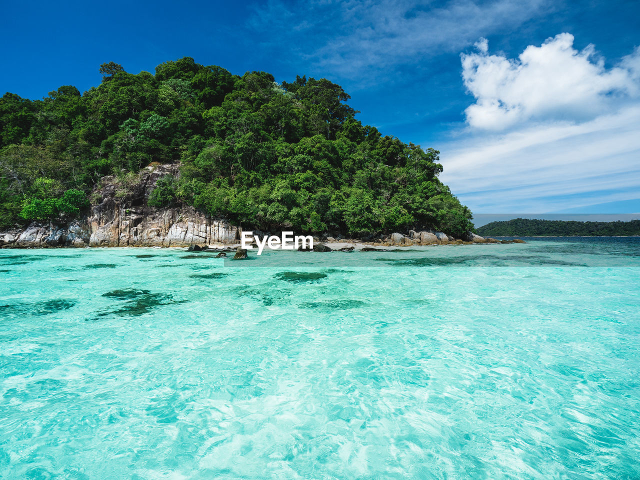
[[[465,204],[541,213],[640,198],[640,49],[609,68],[568,33],[516,60],[484,38],[476,50],[462,55],[468,127],[441,148]]]

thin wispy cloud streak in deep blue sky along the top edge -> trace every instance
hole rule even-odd
[[[295,42],[312,65],[342,77],[374,77],[420,57],[458,52],[479,36],[510,31],[548,12],[548,0],[451,0],[442,6],[408,0],[271,0],[257,8],[250,28],[262,40]],[[301,33],[306,38],[301,40]]]

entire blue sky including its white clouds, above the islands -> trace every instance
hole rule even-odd
[[[84,91],[192,56],[326,77],[358,118],[441,152],[477,213],[640,211],[640,3],[5,3],[0,91]]]

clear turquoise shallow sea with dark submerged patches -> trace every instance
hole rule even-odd
[[[2,250],[0,477],[635,479],[639,253]]]

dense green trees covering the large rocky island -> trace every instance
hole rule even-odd
[[[438,152],[362,125],[326,79],[277,84],[192,58],[155,75],[113,62],[100,73],[83,95],[61,86],[43,100],[0,99],[0,226],[74,214],[104,175],[180,162],[150,205],[300,232],[472,230],[471,212],[438,180]]]

